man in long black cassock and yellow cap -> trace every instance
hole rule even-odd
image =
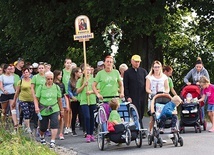
[[[132,67],[125,71],[123,84],[126,100],[134,104],[138,110],[139,122],[143,128],[142,119],[145,109],[146,98],[146,76],[148,72],[140,67],[141,57],[133,55],[131,58]]]

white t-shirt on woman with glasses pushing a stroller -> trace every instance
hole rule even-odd
[[[157,92],[165,92],[164,82],[168,79],[165,74],[162,74],[161,78],[156,78],[153,75],[147,75],[147,79],[150,81],[150,89],[152,94],[157,94]]]

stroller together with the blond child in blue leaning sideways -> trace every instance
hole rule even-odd
[[[160,133],[164,133],[163,129],[171,128],[169,134],[173,134],[172,142],[175,146],[180,143],[183,146],[183,139],[179,135],[179,130],[177,130],[177,110],[176,107],[182,103],[179,96],[175,95],[171,97],[169,94],[157,94],[154,96],[151,102],[151,113],[154,121],[152,135],[148,136],[149,145],[154,142],[154,147],[157,144],[162,147],[162,138],[159,137]]]

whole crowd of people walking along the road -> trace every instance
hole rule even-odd
[[[160,61],[154,61],[148,73],[140,67],[141,57],[133,55],[131,67],[126,64],[114,69],[114,58],[107,56],[104,61],[99,61],[95,70],[84,64],[77,67],[71,59],[65,59],[63,70],[51,71],[50,64],[34,63],[24,67],[24,60],[18,59],[16,64],[4,64],[0,75],[0,102],[3,115],[6,116],[7,107],[14,123],[14,129],[24,123],[25,131],[31,133],[30,120],[39,131],[40,141],[46,144],[45,133],[51,131],[50,147],[55,147],[55,139],[59,133],[59,139],[64,139],[64,134],[71,133],[77,136],[75,131],[77,119],[83,128],[86,142],[95,141],[94,110],[97,99],[106,103],[111,98],[107,96],[119,96],[133,103],[139,114],[139,122],[143,128],[142,119],[146,110],[146,96],[148,95],[148,110],[151,99],[159,92],[177,95],[170,76],[173,69],[170,66],[162,66]],[[208,96],[209,116],[214,124],[214,89],[209,89],[209,74],[203,67],[201,59],[197,60],[195,67],[185,76],[184,82],[189,85],[190,78],[193,84],[202,86],[202,98]],[[201,77],[206,77],[201,79]],[[207,88],[207,89],[206,89]],[[19,110],[19,108],[21,110]],[[19,114],[20,112],[20,114]],[[24,121],[22,119],[24,117]],[[37,115],[41,115],[38,117]],[[18,117],[17,117],[18,116]],[[109,116],[109,113],[107,113]],[[19,118],[19,119],[17,119]],[[19,120],[19,121],[18,121]],[[152,120],[149,132],[152,129]],[[58,131],[59,129],[59,131]],[[214,131],[214,126],[210,129]]]

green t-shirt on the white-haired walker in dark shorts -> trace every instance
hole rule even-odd
[[[39,104],[44,106],[44,108],[40,108],[42,116],[48,116],[59,111],[57,102],[58,98],[62,97],[62,93],[56,84],[53,84],[50,88],[46,85],[40,85],[36,91],[36,97],[39,98]],[[52,106],[52,111],[45,109],[48,106]]]

